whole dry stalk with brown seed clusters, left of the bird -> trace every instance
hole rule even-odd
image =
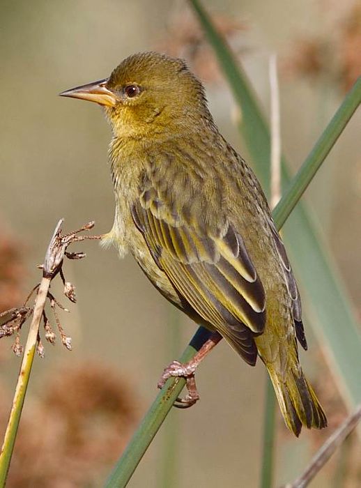
[[[3,440],[3,446],[1,448],[0,454],[0,485],[3,486],[6,481],[6,477],[8,474],[8,468],[10,466],[10,460],[13,454],[13,448],[15,444],[15,438],[17,434],[17,428],[20,422],[20,415],[22,412],[22,406],[24,404],[24,398],[26,394],[26,388],[29,383],[29,376],[31,372],[31,366],[33,364],[33,357],[35,351],[38,352],[40,357],[44,356],[44,347],[40,340],[39,335],[39,326],[40,321],[43,319],[44,327],[45,327],[45,338],[54,344],[55,335],[52,332],[49,321],[45,315],[45,303],[47,298],[50,300],[50,306],[54,312],[54,317],[56,320],[56,325],[59,328],[59,333],[61,335],[61,341],[63,345],[66,346],[67,349],[71,349],[71,338],[67,337],[61,327],[59,318],[56,314],[56,306],[61,307],[63,310],[64,307],[49,293],[49,286],[50,282],[52,282],[53,278],[59,273],[61,275],[61,279],[63,280],[64,284],[64,293],[68,298],[75,302],[75,293],[74,287],[69,282],[65,281],[62,266],[63,266],[63,259],[64,257],[68,257],[69,259],[81,259],[85,257],[85,254],[82,252],[67,252],[68,245],[78,241],[84,241],[84,239],[99,239],[100,236],[79,236],[78,233],[84,230],[90,230],[94,226],[94,222],[89,222],[88,224],[84,225],[81,229],[77,231],[70,232],[70,234],[61,234],[61,225],[63,224],[63,219],[59,220],[56,228],[54,230],[54,234],[52,239],[47,247],[47,252],[45,254],[45,261],[44,264],[39,266],[39,268],[43,269],[43,279],[41,280],[40,284],[36,285],[31,290],[31,293],[26,298],[25,304],[23,307],[18,309],[11,309],[7,310],[0,314],[0,317],[5,317],[5,321],[2,321],[0,326],[0,337],[6,335],[13,335],[16,333],[15,336],[15,344],[13,345],[13,351],[17,356],[23,351],[22,346],[20,345],[20,329],[22,324],[26,321],[26,319],[33,314],[33,318],[31,320],[31,325],[29,328],[29,334],[26,340],[26,345],[24,348],[24,356],[22,358],[22,365],[20,367],[19,376],[17,379],[17,385],[15,388],[15,394],[13,399],[13,405],[11,407],[10,416],[8,420],[8,425],[6,427],[6,433]],[[36,300],[33,309],[30,307],[26,307],[26,303],[30,299],[32,293],[36,291]]]

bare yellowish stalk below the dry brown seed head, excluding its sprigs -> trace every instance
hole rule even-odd
[[[10,466],[11,457],[13,455],[14,444],[19,427],[20,415],[22,413],[22,406],[24,404],[26,388],[28,387],[31,366],[33,365],[33,358],[36,351],[36,343],[38,342],[38,331],[40,320],[43,317],[43,310],[45,301],[47,299],[47,292],[49,290],[51,278],[43,277],[38,289],[36,303],[33,311],[33,319],[29,328],[29,335],[26,340],[24,349],[24,356],[22,358],[22,365],[20,373],[17,378],[17,385],[13,399],[13,406],[11,407],[6,433],[3,439],[3,446],[0,455],[0,486],[4,486],[8,470]]]

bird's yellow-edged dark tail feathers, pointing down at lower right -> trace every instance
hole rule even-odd
[[[268,372],[284,422],[295,436],[300,435],[302,425],[308,429],[327,427],[323,408],[298,365],[291,367],[285,377],[281,377],[272,368]]]

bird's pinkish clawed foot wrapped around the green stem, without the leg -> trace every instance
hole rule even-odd
[[[158,381],[158,388],[163,388],[164,383],[169,378],[185,378],[185,386],[188,390],[184,398],[177,398],[174,406],[178,409],[188,409],[199,400],[199,393],[194,378],[194,372],[197,368],[197,361],[189,361],[188,363],[180,363],[173,361],[168,367],[164,369],[160,381]]]

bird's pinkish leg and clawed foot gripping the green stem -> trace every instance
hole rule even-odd
[[[201,363],[201,360],[207,356],[221,339],[222,335],[217,332],[213,333],[190,361],[187,363],[172,361],[171,364],[164,369],[160,381],[158,382],[158,388],[163,388],[164,383],[171,377],[183,377],[186,380],[185,386],[188,390],[187,395],[185,395],[184,398],[177,398],[176,403],[174,403],[174,406],[178,407],[178,409],[187,409],[199,400],[199,393],[194,378],[195,371],[199,363]]]

